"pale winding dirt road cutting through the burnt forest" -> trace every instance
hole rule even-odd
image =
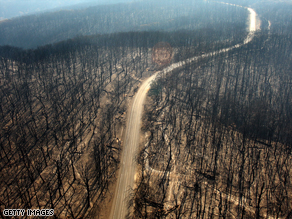
[[[222,2],[223,3],[223,2]],[[238,5],[234,5],[238,6]],[[238,6],[242,7],[242,6]],[[246,8],[246,7],[245,7]],[[147,92],[150,88],[151,83],[155,80],[156,76],[161,73],[170,72],[176,68],[179,68],[187,63],[193,62],[202,57],[209,57],[212,55],[217,55],[223,52],[230,51],[234,48],[239,48],[247,43],[249,43],[253,37],[256,28],[256,13],[251,8],[246,8],[249,11],[249,34],[243,43],[234,45],[229,48],[221,49],[219,51],[210,52],[203,54],[201,56],[195,56],[185,61],[174,63],[162,71],[156,72],[154,75],[146,79],[141,87],[139,88],[137,94],[134,97],[133,105],[129,114],[126,138],[124,141],[123,152],[121,157],[121,165],[119,170],[118,182],[115,191],[115,196],[113,200],[113,206],[111,209],[110,218],[111,219],[124,219],[128,213],[128,198],[131,193],[131,189],[134,187],[134,178],[136,172],[135,157],[137,154],[139,139],[140,139],[140,126],[141,126],[141,116],[143,111],[143,103],[145,101]]]

